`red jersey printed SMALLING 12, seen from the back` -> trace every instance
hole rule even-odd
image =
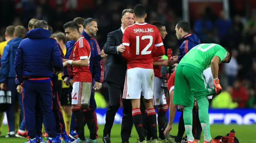
[[[156,26],[135,23],[124,30],[123,45],[126,47],[122,55],[128,60],[127,69],[153,69],[153,46],[160,48],[164,44]]]

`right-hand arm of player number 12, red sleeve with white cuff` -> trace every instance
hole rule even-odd
[[[165,49],[164,49],[164,43],[162,41],[161,35],[159,30],[156,28],[157,30],[157,36],[156,36],[156,41],[155,41],[155,45],[153,46],[153,57],[159,57],[164,55],[165,53]]]

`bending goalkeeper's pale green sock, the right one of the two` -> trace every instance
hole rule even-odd
[[[199,110],[199,119],[201,122],[202,130],[204,133],[204,140],[205,141],[212,141],[212,136],[210,133],[210,119],[209,119],[209,102],[207,97],[201,98],[196,100],[198,104],[198,110]]]

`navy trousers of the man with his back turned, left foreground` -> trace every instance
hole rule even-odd
[[[39,100],[40,108],[36,105],[37,100]],[[25,80],[23,82],[23,105],[28,136],[33,139],[38,134],[36,114],[38,114],[37,112],[40,113],[39,110],[41,109],[43,117],[46,119],[48,135],[55,138],[57,132],[55,129],[55,117],[52,112],[52,82],[50,80],[44,82]]]

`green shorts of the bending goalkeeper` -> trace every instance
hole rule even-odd
[[[209,87],[203,72],[187,66],[177,67],[173,104],[193,106],[194,99],[198,100],[215,93],[215,90]]]

